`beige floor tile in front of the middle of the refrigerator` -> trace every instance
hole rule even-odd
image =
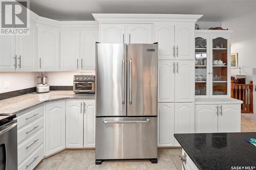
[[[123,160],[118,161],[118,170],[144,170],[148,160]]]

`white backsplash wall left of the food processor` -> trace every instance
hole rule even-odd
[[[0,93],[35,87],[36,76],[37,72],[0,72]]]

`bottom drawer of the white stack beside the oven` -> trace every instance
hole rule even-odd
[[[18,164],[19,170],[33,169],[44,157],[44,145],[41,144],[39,148],[35,150],[25,161]]]

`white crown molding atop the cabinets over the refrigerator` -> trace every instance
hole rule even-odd
[[[98,23],[196,22],[203,15],[186,14],[92,14]]]

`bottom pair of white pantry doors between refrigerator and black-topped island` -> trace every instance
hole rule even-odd
[[[174,133],[195,133],[194,103],[158,103],[158,147],[180,146]]]

